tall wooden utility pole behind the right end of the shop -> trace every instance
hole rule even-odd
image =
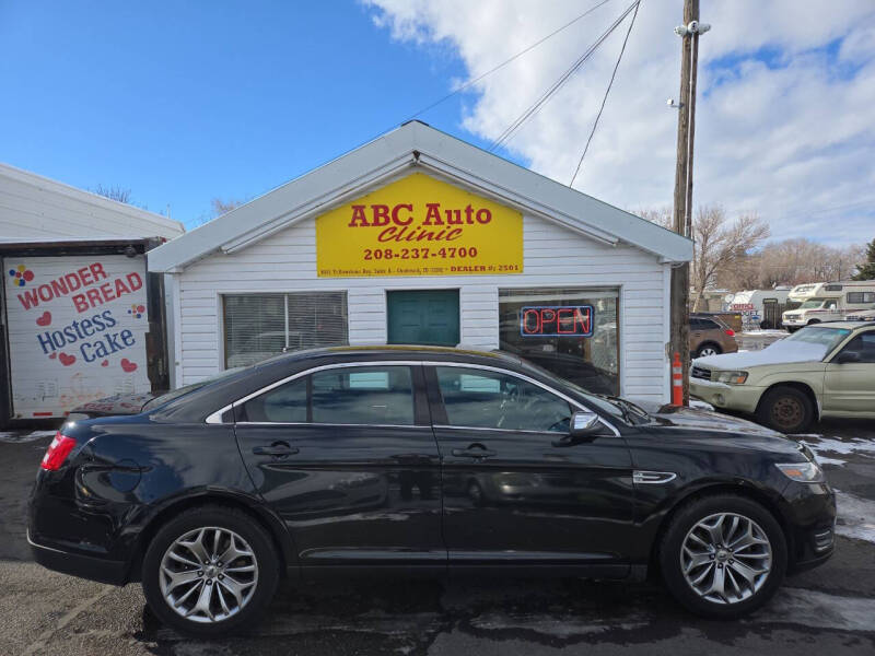
[[[696,130],[696,69],[699,34],[710,25],[699,23],[699,0],[684,0],[684,24],[675,27],[681,37],[680,99],[677,113],[677,163],[675,165],[674,230],[692,237],[692,141]],[[684,405],[689,403],[690,266],[672,269],[670,353],[680,353]]]

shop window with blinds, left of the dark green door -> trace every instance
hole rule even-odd
[[[349,343],[346,292],[225,294],[225,368],[284,351]]]

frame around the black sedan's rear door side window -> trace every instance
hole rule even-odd
[[[279,380],[275,380],[273,383],[257,389],[240,399],[220,408],[215,412],[211,413],[205,420],[208,424],[222,424],[229,423],[223,421],[223,415],[231,410],[232,411],[232,423],[238,426],[370,426],[370,427],[382,427],[382,429],[419,429],[419,427],[431,427],[431,422],[429,421],[429,410],[428,410],[428,401],[425,399],[425,390],[424,390],[424,382],[422,379],[422,367],[420,366],[422,363],[415,360],[387,360],[387,361],[361,361],[361,362],[335,362],[331,364],[324,364],[320,366],[315,366],[311,368],[306,368],[300,372],[292,374],[291,376],[285,376]],[[412,403],[413,403],[413,423],[411,424],[383,424],[383,423],[332,423],[332,422],[314,422],[312,421],[312,375],[316,374],[322,371],[334,370],[334,368],[373,368],[373,367],[382,367],[382,366],[406,366],[410,371],[410,388],[412,391]],[[307,377],[307,421],[303,422],[282,422],[282,421],[237,421],[236,417],[238,413],[238,409],[244,406],[247,401],[250,401],[254,398],[257,398],[261,395],[265,395],[282,385],[288,383],[292,383],[298,380],[299,378]]]

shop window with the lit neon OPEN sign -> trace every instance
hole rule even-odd
[[[618,290],[499,290],[499,343],[588,391],[617,395],[618,312]]]

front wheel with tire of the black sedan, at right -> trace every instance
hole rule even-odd
[[[714,539],[718,531],[721,537]],[[767,543],[745,546],[745,535]],[[707,544],[712,541],[718,542],[711,544],[713,551]],[[759,503],[735,494],[703,496],[680,508],[658,553],[663,579],[675,599],[712,619],[735,619],[762,607],[786,573],[781,526]]]

